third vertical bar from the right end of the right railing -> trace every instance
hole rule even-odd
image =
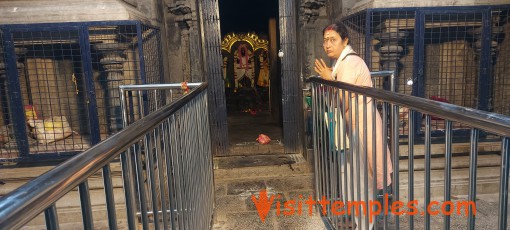
[[[446,121],[445,133],[445,167],[444,167],[444,202],[451,200],[452,188],[452,122]],[[450,205],[446,206],[445,213],[450,212]],[[450,229],[450,215],[444,215],[444,229]]]

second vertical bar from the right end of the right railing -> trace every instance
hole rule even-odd
[[[476,128],[471,129],[471,151],[469,153],[469,192],[468,199],[469,201],[476,204],[476,167],[478,161],[478,136],[479,130]],[[475,229],[475,216],[473,215],[472,205],[469,205],[469,215],[468,215],[468,229]]]

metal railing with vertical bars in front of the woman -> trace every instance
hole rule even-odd
[[[452,207],[452,133],[455,124],[471,127],[469,138],[469,178],[467,191],[466,216],[468,229],[475,228],[477,202],[477,159],[480,155],[479,134],[484,132],[500,143],[500,176],[499,176],[499,207],[494,217],[498,217],[499,229],[507,229],[508,178],[510,167],[510,117],[465,108],[453,104],[417,98],[409,95],[381,90],[370,87],[359,87],[342,82],[327,81],[318,77],[307,80],[312,91],[314,168],[317,203],[326,199],[331,206],[318,207],[323,211],[326,222],[334,229],[369,229],[374,224],[388,229],[400,227],[415,229],[431,228],[431,213],[428,208],[434,204],[431,198],[442,198],[446,211],[443,216],[443,228],[450,229]],[[342,100],[352,98],[351,100]],[[381,108],[382,111],[379,111]],[[402,109],[408,113],[402,113]],[[400,118],[402,114],[404,118]],[[423,195],[415,184],[415,136],[408,135],[399,138],[400,119],[408,121],[409,132],[413,133],[414,121],[418,116],[424,117],[423,143]],[[379,117],[379,118],[378,118]],[[432,153],[431,119],[443,119],[445,136],[439,141],[444,152]],[[380,119],[380,123],[378,123]],[[373,134],[373,135],[369,135]],[[402,144],[402,143],[403,144]],[[435,140],[434,143],[437,143]],[[401,155],[400,150],[407,144],[407,156]],[[382,147],[381,147],[382,146]],[[371,151],[375,149],[375,151]],[[431,180],[437,183],[437,177],[432,178],[432,155],[444,157],[444,169],[440,168],[444,178],[443,191],[434,195],[431,190]],[[417,154],[418,155],[418,154]],[[421,157],[421,156],[420,156]],[[381,161],[382,159],[382,161]],[[387,161],[391,160],[391,161]],[[407,178],[400,178],[401,167],[399,161],[407,160]],[[378,161],[381,161],[379,163]],[[377,162],[377,163],[372,163]],[[389,164],[392,164],[393,173]],[[383,167],[381,170],[378,167]],[[435,167],[438,170],[438,167]],[[383,171],[382,173],[380,171]],[[382,180],[381,180],[381,177]],[[407,179],[407,184],[402,183]],[[378,183],[378,181],[382,181]],[[402,184],[402,186],[401,186]],[[404,187],[407,185],[407,188]],[[374,189],[376,188],[377,189]],[[406,190],[407,189],[407,190]],[[401,196],[401,192],[407,194]],[[421,197],[422,196],[422,197]],[[424,226],[415,226],[414,214],[409,213],[408,205],[418,202],[422,198],[423,207],[427,207],[423,214]],[[335,203],[336,202],[336,203]],[[358,202],[358,203],[353,203]],[[360,203],[361,202],[361,203]],[[365,202],[365,206],[363,206]],[[401,223],[399,217],[404,213],[388,215],[387,209],[392,209],[396,203],[402,202],[398,211],[407,214],[407,221]],[[322,202],[325,204],[324,202]],[[335,205],[337,206],[335,206]],[[420,203],[421,204],[421,203]],[[345,206],[344,206],[345,205]],[[381,206],[378,206],[381,205]],[[397,204],[398,206],[398,204]],[[416,205],[417,206],[417,205]],[[415,207],[421,210],[420,206]],[[442,207],[442,206],[441,206]],[[359,208],[360,212],[356,213]],[[335,210],[336,209],[336,210]],[[384,209],[384,210],[383,210]],[[363,213],[363,210],[366,213]],[[377,213],[377,210],[383,213]],[[343,212],[342,212],[343,211]],[[393,210],[392,210],[393,211]],[[458,211],[458,210],[456,210]],[[392,212],[390,212],[391,214]],[[448,215],[447,215],[448,214]]]

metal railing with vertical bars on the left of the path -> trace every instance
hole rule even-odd
[[[1,197],[0,229],[20,228],[41,212],[47,229],[58,229],[55,203],[76,187],[83,229],[93,229],[87,181],[99,170],[106,197],[101,205],[110,229],[123,223],[116,206],[125,206],[129,229],[210,228],[214,186],[210,135],[204,128],[209,127],[206,88],[202,83],[180,99],[154,107],[108,139]],[[114,199],[122,194],[114,193],[110,169],[119,156],[123,201]]]

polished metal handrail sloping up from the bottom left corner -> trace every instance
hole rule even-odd
[[[35,218],[155,128],[195,96],[205,91],[201,85],[180,100],[171,102],[134,122],[106,140],[61,163],[57,167],[0,198],[0,229],[17,229]]]

